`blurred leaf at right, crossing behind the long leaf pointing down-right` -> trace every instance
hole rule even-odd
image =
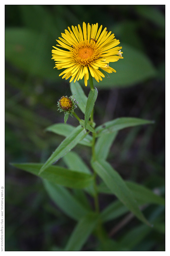
[[[138,204],[165,204],[164,198],[154,194],[150,189],[131,181],[126,181],[125,183],[133,194],[133,197],[137,200]],[[104,183],[99,184],[98,191],[99,193],[112,194],[111,190]]]

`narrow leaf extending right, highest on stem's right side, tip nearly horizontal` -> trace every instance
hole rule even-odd
[[[139,119],[139,118],[133,118],[133,117],[121,117],[98,126],[95,129],[95,131],[97,133],[97,136],[101,136],[101,134],[103,133],[108,134],[115,131],[119,131],[127,127],[144,125],[144,124],[153,124],[153,123],[154,121],[145,120],[145,119]]]

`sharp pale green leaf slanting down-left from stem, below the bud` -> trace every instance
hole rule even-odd
[[[84,128],[79,125],[77,126],[58,146],[54,153],[49,157],[45,164],[41,167],[40,173],[44,171],[49,165],[56,162],[58,159],[67,154],[73,149],[77,143],[86,136]]]

